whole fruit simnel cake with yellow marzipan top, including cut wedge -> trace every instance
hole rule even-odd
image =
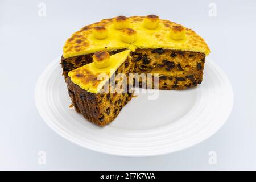
[[[104,126],[133,97],[130,85],[141,80],[127,79],[131,73],[157,76],[153,89],[191,88],[201,84],[209,53],[204,39],[180,24],[156,15],[118,16],[75,32],[65,42],[61,65],[75,110]],[[116,81],[121,74],[126,77]]]

